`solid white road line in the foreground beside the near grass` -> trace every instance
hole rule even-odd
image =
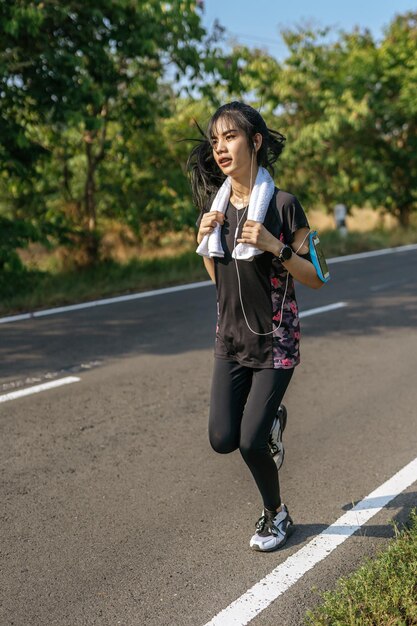
[[[417,458],[288,557],[205,626],[244,626],[417,480]]]

